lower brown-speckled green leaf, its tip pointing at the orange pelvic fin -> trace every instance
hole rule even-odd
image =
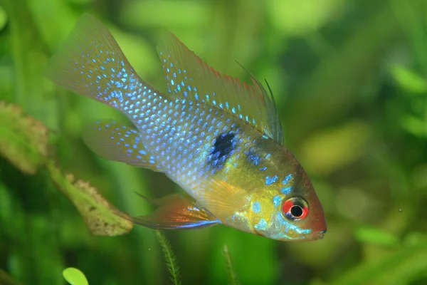
[[[53,182],[73,202],[83,216],[90,232],[95,235],[117,236],[130,232],[133,223],[100,195],[88,182],[74,181],[73,175],[63,175],[53,162],[48,163]]]

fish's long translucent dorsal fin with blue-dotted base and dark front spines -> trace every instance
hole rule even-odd
[[[253,84],[241,83],[238,78],[225,74],[221,76],[173,33],[164,36],[157,52],[162,60],[169,93],[226,110],[283,144],[283,130],[273,94],[270,96],[252,75]]]

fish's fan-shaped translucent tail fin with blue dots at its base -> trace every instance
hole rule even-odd
[[[45,74],[53,83],[118,109],[148,87],[111,33],[90,14],[78,20]]]

